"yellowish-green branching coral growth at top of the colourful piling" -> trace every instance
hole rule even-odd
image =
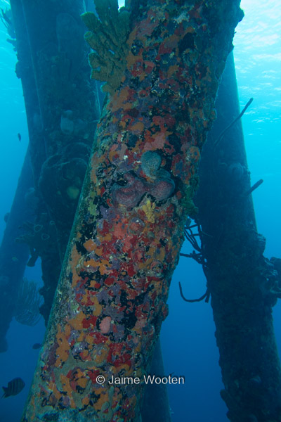
[[[103,91],[113,94],[126,67],[129,34],[129,12],[118,11],[117,0],[95,0],[98,18],[87,12],[81,16],[89,28],[85,39],[94,50],[89,54],[91,77],[106,82]]]

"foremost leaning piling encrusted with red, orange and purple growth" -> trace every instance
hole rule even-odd
[[[100,20],[83,16],[108,97],[22,422],[141,421],[239,5],[96,1]],[[140,382],[109,382],[124,376]]]

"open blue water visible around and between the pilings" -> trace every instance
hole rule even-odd
[[[120,6],[122,2],[119,1]],[[0,7],[7,8],[1,0]],[[245,16],[236,28],[234,56],[241,109],[254,97],[242,117],[251,183],[263,179],[253,193],[259,233],[266,237],[266,257],[280,256],[281,235],[281,5],[280,1],[242,0]],[[0,26],[0,236],[5,229],[20,169],[28,145],[25,106],[20,79],[15,76],[16,56]],[[19,140],[18,134],[21,139]],[[183,252],[189,250],[183,246]],[[27,267],[25,276],[41,286],[40,263]],[[185,296],[197,298],[206,281],[199,264],[181,258],[174,273],[169,295],[169,316],[162,325],[162,350],[165,374],[184,376],[184,385],[169,387],[173,422],[226,422],[226,405],[219,392],[223,388],[218,366],[211,305],[185,303]],[[273,309],[275,335],[281,351],[281,304]],[[32,349],[44,337],[44,321],[34,327],[13,320],[8,331],[8,351],[0,354],[0,386],[15,377],[25,388],[15,397],[1,399],[0,422],[19,422],[32,381],[39,350]]]

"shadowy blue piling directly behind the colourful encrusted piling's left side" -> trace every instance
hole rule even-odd
[[[83,1],[11,0],[11,10],[38,202],[34,227],[25,226],[21,240],[33,251],[30,265],[41,258],[47,323],[100,109],[89,79]]]

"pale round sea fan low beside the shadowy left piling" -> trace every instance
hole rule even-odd
[[[26,277],[22,279],[18,290],[18,298],[15,304],[15,319],[20,324],[34,326],[39,321],[41,298],[37,285]]]

